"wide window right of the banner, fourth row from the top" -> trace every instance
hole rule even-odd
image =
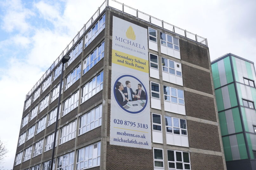
[[[187,135],[187,122],[185,119],[165,116],[165,126],[167,133]]]

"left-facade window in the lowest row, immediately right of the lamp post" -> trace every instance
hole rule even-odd
[[[74,169],[75,152],[58,157],[57,170]]]

